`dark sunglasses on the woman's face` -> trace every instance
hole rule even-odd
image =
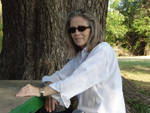
[[[68,32],[69,33],[75,33],[76,32],[76,29],[79,31],[79,32],[83,32],[85,31],[86,29],[88,28],[91,28],[90,26],[78,26],[77,28],[76,27],[70,27]]]

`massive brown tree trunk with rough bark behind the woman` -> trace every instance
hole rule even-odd
[[[108,0],[2,0],[0,79],[41,79],[67,61],[64,22],[74,9],[91,9],[105,35]]]

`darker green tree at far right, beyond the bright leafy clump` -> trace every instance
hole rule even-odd
[[[149,44],[150,17],[148,15],[149,8],[146,7],[149,2],[145,0],[120,0],[117,8],[125,16],[124,24],[128,27],[126,47],[134,55],[144,55],[145,47]]]

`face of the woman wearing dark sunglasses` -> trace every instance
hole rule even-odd
[[[80,16],[73,17],[70,21],[70,33],[74,43],[83,49],[89,40],[91,28],[88,21]]]

